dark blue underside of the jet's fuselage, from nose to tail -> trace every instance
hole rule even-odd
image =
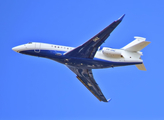
[[[116,66],[124,66],[124,65],[133,65],[133,64],[141,64],[139,62],[113,62],[102,59],[88,59],[88,58],[80,58],[80,57],[69,57],[63,55],[60,51],[52,51],[52,50],[40,50],[39,53],[34,50],[22,51],[23,54],[28,54],[32,56],[39,56],[48,58],[59,63],[70,65],[73,67],[86,68],[86,69],[100,69],[100,68],[109,68]]]

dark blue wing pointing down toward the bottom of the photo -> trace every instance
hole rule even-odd
[[[106,100],[103,93],[101,92],[98,84],[93,78],[92,70],[91,69],[82,69],[82,68],[76,68],[72,66],[67,66],[70,70],[72,70],[77,76],[77,78],[80,80],[83,85],[88,88],[88,90],[100,101],[108,102],[109,100]]]

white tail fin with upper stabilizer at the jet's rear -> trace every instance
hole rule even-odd
[[[150,42],[145,41],[146,38],[143,37],[134,37],[136,38],[134,41],[123,47],[122,49],[126,51],[140,51],[144,47],[146,47]]]

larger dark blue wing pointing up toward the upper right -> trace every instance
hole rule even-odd
[[[66,53],[66,56],[71,57],[81,57],[81,58],[93,58],[98,47],[109,37],[110,33],[117,27],[117,25],[122,21],[125,14],[120,17],[117,21],[114,21],[104,30],[99,32],[97,35],[92,37],[86,43],[80,45],[79,47],[73,49],[72,51]]]

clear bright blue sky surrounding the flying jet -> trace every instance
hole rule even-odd
[[[0,120],[163,120],[162,0],[1,0]],[[99,102],[64,65],[16,53],[44,42],[76,47],[121,15],[103,46],[121,48],[141,36],[147,71],[135,66],[93,70],[110,103]]]

